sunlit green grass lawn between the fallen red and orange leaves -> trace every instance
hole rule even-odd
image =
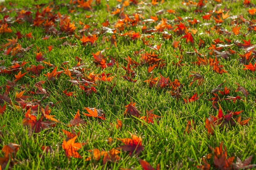
[[[9,3],[10,2],[10,3]],[[24,2],[24,3],[22,3]],[[46,34],[45,29],[42,25],[33,26],[33,23],[24,21],[19,24],[15,21],[17,17],[16,11],[25,9],[27,11],[32,11],[31,14],[33,20],[36,15],[35,4],[43,4],[39,9],[41,13],[43,8],[48,5],[53,8],[52,15],[57,14],[57,11],[61,15],[70,16],[70,23],[75,23],[76,29],[73,33],[65,33],[60,31],[60,22],[56,19],[55,29],[58,31],[56,35]],[[110,7],[110,11],[106,10],[106,3]],[[19,150],[16,152],[15,156],[12,153],[11,163],[9,168],[12,169],[121,169],[130,168],[135,170],[141,170],[142,167],[139,163],[139,159],[143,159],[150,163],[154,168],[159,164],[160,169],[197,169],[196,166],[203,164],[202,157],[208,153],[213,153],[209,146],[215,148],[220,146],[223,141],[223,146],[227,147],[228,157],[239,157],[242,161],[254,155],[251,164],[256,164],[256,121],[255,121],[255,97],[256,97],[256,79],[255,72],[250,70],[244,70],[245,66],[238,61],[240,55],[244,55],[245,49],[240,48],[238,45],[234,44],[235,40],[243,43],[243,40],[250,40],[252,45],[255,45],[255,31],[248,32],[249,26],[255,24],[256,15],[250,15],[248,9],[253,7],[245,7],[242,1],[224,1],[222,2],[221,8],[230,9],[229,15],[234,16],[243,15],[246,20],[251,21],[241,22],[238,18],[233,20],[232,18],[227,18],[220,27],[226,29],[231,34],[216,33],[215,21],[211,17],[210,20],[203,20],[202,16],[206,15],[207,12],[217,7],[218,2],[212,1],[207,2],[205,7],[202,9],[202,13],[195,13],[194,10],[198,9],[196,6],[186,6],[182,5],[180,1],[166,1],[163,4],[159,3],[155,6],[151,4],[149,0],[145,0],[144,4],[130,4],[130,6],[124,7],[124,13],[127,14],[130,19],[133,19],[135,11],[138,11],[140,16],[140,21],[135,25],[127,25],[124,30],[116,29],[116,33],[107,33],[103,30],[101,23],[109,20],[110,29],[115,29],[115,24],[121,18],[119,15],[111,15],[112,11],[115,11],[120,2],[115,0],[101,1],[101,4],[95,4],[92,2],[92,10],[85,10],[77,7],[77,4],[69,4],[69,0],[55,0],[53,3],[43,0],[31,0],[30,3],[27,1],[7,1],[0,4],[0,18],[5,15],[9,17],[14,17],[11,21],[7,22],[8,27],[12,30],[11,33],[0,33],[0,106],[3,107],[6,104],[6,110],[0,114],[0,148],[10,143],[18,144]],[[7,8],[7,13],[3,12],[4,7]],[[138,9],[139,8],[139,9]],[[56,10],[58,9],[58,10]],[[76,10],[74,13],[70,13],[69,10]],[[174,14],[166,12],[168,9],[175,10]],[[220,7],[217,7],[217,11]],[[163,13],[158,14],[157,11],[163,10]],[[227,10],[224,11],[227,13]],[[93,15],[91,18],[85,18],[85,15]],[[158,21],[152,23],[144,23],[143,20],[150,19],[150,16],[157,15]],[[216,17],[216,14],[213,14]],[[194,43],[186,43],[186,39],[182,39],[182,36],[177,35],[174,29],[180,24],[180,22],[175,22],[177,17],[182,17],[182,22],[189,30],[197,29],[198,32],[193,35]],[[186,18],[188,17],[188,18]],[[58,17],[57,17],[58,18]],[[164,31],[171,34],[169,40],[163,38],[162,32],[156,33],[142,33],[142,26],[146,26],[147,29],[154,29],[157,24],[161,22],[161,18],[165,18],[173,29],[164,29]],[[191,25],[187,21],[188,19],[200,20],[200,23]],[[14,21],[14,22],[12,22]],[[90,28],[82,33],[79,30],[83,26],[79,25],[79,21],[84,24],[88,24]],[[238,21],[238,26],[242,26],[239,35],[234,35],[232,28],[236,25]],[[201,25],[204,23],[209,23],[209,26]],[[0,21],[0,26],[5,23],[4,20]],[[44,22],[45,23],[45,22]],[[26,48],[31,44],[34,46],[25,53],[20,55],[12,56],[4,55],[4,51],[11,46],[4,47],[8,41],[7,39],[16,38],[16,32],[19,31],[22,38],[18,39],[18,44],[22,48]],[[128,31],[139,32],[140,38],[132,40],[128,36],[121,36]],[[205,31],[210,31],[211,34]],[[27,33],[32,33],[31,39],[26,38]],[[98,40],[94,44],[83,45],[80,41],[83,35],[87,37],[88,35],[96,34]],[[161,48],[157,50],[150,49],[147,45],[143,43],[144,34],[151,34],[153,37],[147,38],[145,40],[149,41],[152,46],[162,44]],[[48,40],[42,40],[45,35],[51,35]],[[110,44],[111,36],[116,36],[117,48]],[[63,38],[66,37],[67,38]],[[63,39],[61,39],[63,38]],[[104,41],[103,38],[107,38]],[[215,54],[210,54],[211,44],[214,44],[213,40],[219,38],[223,43],[227,44],[225,38],[231,40],[230,44],[232,46],[224,47],[220,51],[228,51],[232,49],[236,53],[229,55],[228,59],[217,58],[220,65],[223,65],[223,69],[227,73],[218,74],[213,71],[213,66],[201,65],[198,66],[193,62],[197,61],[198,54],[186,53],[194,52],[196,49],[198,53],[205,55],[208,59],[215,58]],[[205,46],[199,47],[199,41],[203,40]],[[180,41],[180,49],[173,47],[173,41]],[[69,45],[63,45],[63,43],[70,43]],[[48,52],[47,46],[53,46],[52,51]],[[15,47],[14,44],[12,47]],[[217,46],[217,45],[216,45]],[[37,50],[37,47],[40,48]],[[148,73],[148,64],[140,64],[139,66],[133,68],[136,75],[132,79],[137,80],[137,82],[132,83],[125,80],[122,76],[126,75],[126,70],[128,62],[125,60],[127,56],[130,56],[132,60],[138,63],[140,61],[140,55],[135,55],[135,51],[141,51],[141,53],[153,53],[158,54],[159,58],[164,60],[166,65],[163,68],[154,68],[152,73]],[[36,53],[41,51],[45,56],[44,61],[54,64],[54,66],[47,66],[43,62],[36,61]],[[107,58],[107,63],[110,61],[111,57],[118,61],[114,66],[101,68],[97,67],[93,62],[94,58],[92,53],[97,53],[97,51],[102,51],[104,57]],[[177,63],[182,56],[181,64],[182,66],[175,66],[173,63]],[[249,61],[252,64],[255,62],[255,52],[252,53],[252,60]],[[57,71],[63,71],[63,68],[72,69],[78,64],[76,57],[81,58],[81,64],[83,69],[74,68],[73,70],[78,70],[81,72],[80,77],[75,77],[72,75],[73,79],[82,80],[87,79],[88,75],[92,72],[94,74],[108,74],[113,76],[112,81],[104,82],[97,81],[95,83],[95,88],[97,93],[92,92],[91,95],[86,95],[86,93],[79,88],[77,85],[73,85],[69,80],[71,79],[68,75],[61,73],[59,77],[56,77],[54,81],[48,80],[45,74],[51,73],[55,66]],[[43,65],[45,68],[41,70],[41,73],[35,75],[32,72],[27,73],[24,77],[16,81],[16,83],[11,86],[7,84],[7,80],[13,82],[15,75],[19,71],[10,71],[9,74],[2,73],[5,68],[9,68],[13,65],[13,60],[19,62],[28,62],[24,66],[20,67],[21,73],[25,73],[27,68],[32,65],[38,66]],[[68,61],[66,65],[63,62]],[[247,62],[247,64],[249,64]],[[63,67],[63,68],[61,68]],[[193,77],[189,75],[198,72],[204,75],[204,82],[199,85],[195,81],[191,86],[190,82]],[[153,74],[153,78],[169,77],[170,81],[173,82],[178,79],[180,86],[180,97],[173,97],[171,95],[171,87],[166,88],[150,88],[148,84],[144,81],[149,79]],[[127,75],[129,76],[129,75]],[[36,82],[45,81],[42,87],[45,88],[45,94],[34,94],[38,88],[34,85]],[[89,81],[89,80],[88,80]],[[237,100],[235,103],[229,100],[219,101],[216,108],[213,108],[212,102],[209,101],[213,94],[211,91],[216,88],[219,84],[225,82],[222,88],[227,86],[230,89],[229,96],[236,97],[240,96],[242,100]],[[245,97],[242,92],[235,92],[238,85],[244,87],[249,95]],[[1,96],[4,95],[7,87],[9,87],[8,97],[11,102],[2,99]],[[73,96],[66,96],[63,91],[67,89],[68,92],[73,92]],[[23,104],[16,101],[16,93],[25,91],[24,95],[29,96],[25,99]],[[184,99],[188,99],[193,94],[197,93],[200,95],[198,100],[194,102],[184,103]],[[218,92],[217,92],[218,93]],[[218,93],[220,95],[220,93]],[[222,98],[224,96],[220,95]],[[225,95],[227,98],[227,95]],[[124,112],[126,110],[125,106],[130,102],[136,103],[136,108],[141,112],[141,116],[146,115],[147,110],[153,110],[153,114],[161,116],[157,119],[159,123],[155,121],[154,124],[148,124],[144,120],[137,117],[125,116]],[[25,119],[25,113],[32,105],[39,106],[38,110],[34,111],[34,115],[37,119],[41,117],[41,108],[45,108],[50,105],[51,109],[50,115],[55,115],[54,118],[60,121],[56,123],[55,126],[45,128],[38,133],[31,132],[30,126],[24,126],[23,120]],[[19,106],[20,108],[17,108]],[[237,124],[236,126],[228,127],[225,126],[221,128],[216,126],[214,128],[213,135],[208,134],[205,128],[205,120],[210,116],[218,115],[218,108],[221,106],[223,114],[226,115],[228,110],[240,111],[244,110],[241,115],[241,120],[251,118],[247,125],[241,126]],[[97,118],[86,117],[82,112],[84,107],[98,108],[102,109],[106,115],[106,120],[100,120]],[[85,126],[73,126],[69,127],[69,123],[76,115],[77,110],[80,110],[81,118],[85,120]],[[234,116],[235,118],[237,116]],[[117,119],[121,120],[123,125],[120,129],[117,129],[115,125],[117,124]],[[195,122],[195,129],[191,130],[190,133],[186,132],[186,125],[188,121]],[[46,121],[44,118],[43,121]],[[79,154],[83,159],[78,158],[68,158],[65,155],[65,150],[62,148],[63,139],[65,140],[66,135],[62,132],[62,129],[70,131],[74,130],[76,133],[80,132],[79,137],[76,142],[87,143],[80,150]],[[108,162],[103,164],[103,157],[97,160],[85,161],[87,157],[90,156],[88,150],[98,148],[99,150],[109,151],[112,148],[118,148],[122,145],[121,141],[117,138],[130,138],[129,132],[142,138],[142,146],[144,150],[141,151],[139,155],[129,156],[128,152],[121,150],[119,157],[120,160],[117,162]],[[108,138],[112,138],[112,143],[108,142]],[[49,146],[51,152],[46,153],[41,148],[42,146]],[[4,152],[0,152],[0,157],[4,157]],[[216,169],[213,166],[213,157],[207,160],[211,164],[211,169]],[[234,161],[235,162],[235,161]],[[4,169],[0,161],[0,165]],[[8,169],[8,166],[5,168]]]

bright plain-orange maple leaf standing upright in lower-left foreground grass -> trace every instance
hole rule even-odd
[[[65,154],[68,158],[74,157],[74,158],[83,158],[77,150],[79,150],[85,143],[75,143],[77,136],[73,137],[72,139],[69,139],[68,141],[65,141],[63,139],[62,148],[65,150]]]

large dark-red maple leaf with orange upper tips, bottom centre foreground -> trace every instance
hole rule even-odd
[[[120,146],[119,148],[121,148],[122,150],[125,151],[130,151],[129,155],[132,156],[132,154],[137,154],[139,155],[139,153],[144,150],[144,147],[142,146],[142,139],[141,137],[137,137],[136,135],[133,135],[131,132],[128,131],[128,133],[131,135],[131,138],[117,138],[117,140],[121,141],[124,143],[123,146]]]

